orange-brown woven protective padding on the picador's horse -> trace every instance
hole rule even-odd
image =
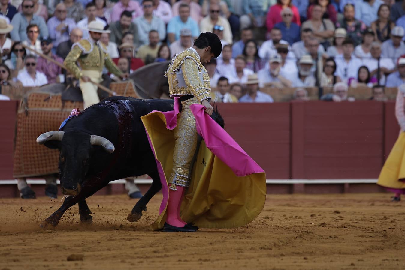
[[[137,97],[132,82],[112,83],[110,89],[119,96]],[[36,138],[58,130],[73,108],[83,109],[83,102],[62,102],[61,94],[32,89],[23,98],[17,115],[17,136],[14,151],[14,177],[58,173],[58,149],[38,145]]]

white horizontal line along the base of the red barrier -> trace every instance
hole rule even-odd
[[[28,184],[44,185],[43,179],[27,179]],[[57,180],[60,184],[60,181]],[[124,184],[125,179],[111,181],[110,184]],[[152,179],[135,179],[136,184],[151,184]],[[375,184],[377,179],[266,179],[267,184]],[[0,185],[14,185],[17,180],[0,180]]]

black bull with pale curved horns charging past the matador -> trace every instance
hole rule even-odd
[[[153,110],[171,111],[173,104],[173,100],[111,97],[70,119],[63,132],[52,131],[39,136],[38,143],[59,149],[61,190],[71,195],[41,227],[58,225],[64,212],[77,203],[80,220],[92,222],[86,198],[111,181],[147,174],[152,178],[152,185],[127,219],[133,222],[141,218],[146,204],[162,184],[140,117]],[[212,117],[223,126],[223,119],[216,111]]]

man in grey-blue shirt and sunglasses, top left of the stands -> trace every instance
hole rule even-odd
[[[24,41],[27,40],[27,26],[29,24],[36,24],[39,28],[40,36],[49,36],[47,25],[42,17],[34,14],[34,2],[32,0],[23,0],[22,12],[14,15],[11,20],[11,25],[13,30],[10,33],[11,39],[13,41]]]

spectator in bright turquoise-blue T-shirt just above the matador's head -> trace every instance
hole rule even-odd
[[[179,6],[179,16],[172,18],[167,25],[167,38],[170,43],[179,40],[180,30],[188,28],[191,30],[193,40],[196,39],[200,30],[198,24],[190,17],[190,6],[186,3],[181,3]]]

